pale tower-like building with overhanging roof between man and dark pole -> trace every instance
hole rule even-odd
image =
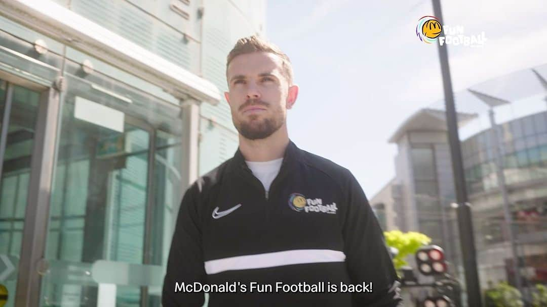
[[[460,113],[459,123],[474,117]],[[398,149],[396,176],[370,203],[375,209],[382,204],[391,207],[386,213],[387,230],[425,233],[432,244],[445,249],[449,260],[459,263],[458,234],[450,207],[455,196],[446,129],[445,112],[433,109],[422,109],[401,124],[389,138]]]

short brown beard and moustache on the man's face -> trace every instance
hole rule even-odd
[[[263,105],[270,106],[268,103],[263,101],[257,101],[253,103],[252,101],[247,101],[245,104],[241,105],[239,110],[245,109],[249,105]],[[279,130],[285,123],[285,118],[281,107],[278,110],[275,110],[273,116],[269,118],[259,119],[262,115],[251,115],[248,118],[247,122],[236,121],[234,117],[234,126],[237,131],[248,140],[261,140],[266,139],[270,135],[274,134],[275,131]],[[232,116],[233,117],[233,116]]]

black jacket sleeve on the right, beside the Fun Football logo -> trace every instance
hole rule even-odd
[[[357,179],[348,173],[347,210],[342,228],[346,263],[353,284],[372,282],[371,292],[354,293],[354,306],[403,307],[400,279],[380,224]]]

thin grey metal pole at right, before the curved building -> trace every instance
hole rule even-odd
[[[499,190],[502,192],[503,215],[505,218],[505,224],[507,224],[507,233],[509,236],[509,243],[511,244],[511,252],[513,252],[513,270],[515,271],[516,287],[517,289],[519,289],[520,293],[524,294],[524,292],[522,291],[522,282],[519,270],[519,253],[516,249],[515,233],[513,229],[513,217],[511,216],[511,211],[509,209],[509,196],[507,194],[507,187],[505,186],[505,175],[503,173],[503,156],[499,143],[498,126],[496,125],[496,119],[494,119],[494,110],[492,108],[488,110],[488,115],[490,116],[490,125],[492,126],[492,138],[494,140],[494,162],[496,163],[498,186]]]

